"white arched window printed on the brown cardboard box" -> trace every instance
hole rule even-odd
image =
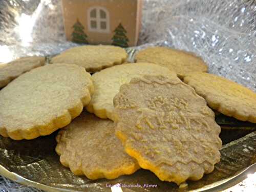
[[[91,7],[88,10],[88,29],[99,33],[110,33],[109,11],[104,7]]]

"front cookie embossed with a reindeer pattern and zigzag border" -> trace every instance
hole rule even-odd
[[[137,84],[137,86],[133,86],[133,84]],[[191,95],[195,96],[195,97],[193,97],[194,101],[200,102],[200,104],[202,104],[201,107],[203,107],[203,109],[205,110],[205,111],[201,112],[205,115],[202,117],[209,116],[209,117],[207,117],[207,119],[209,120],[207,122],[209,124],[206,123],[207,126],[203,126],[204,134],[207,133],[205,135],[206,139],[204,140],[205,142],[207,142],[207,144],[204,143],[205,145],[204,144],[200,145],[201,150],[203,150],[203,153],[204,153],[204,156],[200,161],[196,161],[195,158],[194,159],[191,158],[187,162],[184,160],[182,160],[182,161],[177,160],[177,161],[173,162],[173,164],[172,164],[172,161],[170,161],[170,160],[164,161],[164,159],[168,159],[168,157],[170,157],[170,155],[175,156],[176,154],[173,152],[169,152],[169,156],[165,155],[164,152],[167,153],[168,150],[172,150],[172,148],[169,146],[170,145],[174,146],[174,145],[172,142],[169,142],[169,140],[168,140],[172,137],[167,137],[167,138],[165,138],[165,140],[163,140],[164,132],[161,132],[160,130],[161,129],[162,130],[169,129],[165,133],[166,134],[168,133],[170,136],[172,136],[174,134],[173,137],[176,136],[175,134],[179,134],[182,132],[178,131],[178,133],[177,133],[175,131],[175,130],[179,130],[179,128],[177,128],[176,125],[168,125],[168,127],[166,125],[166,127],[165,126],[160,127],[161,122],[162,123],[165,122],[162,117],[155,118],[156,123],[154,123],[154,122],[152,123],[150,118],[148,118],[148,117],[150,117],[150,115],[148,115],[147,113],[144,114],[145,118],[143,118],[145,120],[144,126],[138,125],[137,120],[141,117],[141,114],[139,114],[138,112],[141,112],[141,111],[151,112],[151,110],[148,110],[147,106],[145,106],[144,103],[141,103],[141,100],[144,99],[145,102],[147,101],[148,103],[152,104],[152,102],[150,102],[151,94],[143,93],[143,95],[145,95],[145,97],[143,97],[143,99],[141,99],[142,93],[139,94],[140,91],[137,91],[136,93],[134,93],[135,90],[148,89],[148,87],[143,86],[143,84],[144,85],[152,84],[152,87],[153,87],[152,89],[158,88],[158,86],[161,86],[161,85],[165,85],[166,88],[168,88],[168,86],[169,86],[169,88],[171,88],[172,84],[174,86],[181,84],[185,89],[187,89],[189,91],[189,93]],[[179,91],[182,91],[182,90],[184,91],[184,88]],[[133,92],[130,90],[132,90]],[[162,92],[162,94],[163,94],[163,92]],[[177,93],[175,93],[175,94],[177,94]],[[136,95],[136,97],[133,96],[131,98],[130,97],[131,95]],[[152,95],[156,95],[156,94],[153,93]],[[137,97],[140,99],[138,101],[135,101],[135,99]],[[184,97],[184,94],[182,97]],[[147,99],[145,99],[145,98],[147,98]],[[189,100],[189,98],[187,98],[187,99]],[[165,100],[163,98],[161,98],[161,100],[164,101],[164,104],[162,106],[165,106],[166,108],[169,107],[167,104],[169,102],[167,100]],[[160,105],[159,104],[160,102],[161,101],[157,100],[157,102],[156,102],[157,104],[154,103],[154,105],[153,105],[154,108],[157,108],[157,105]],[[205,174],[211,173],[212,170],[214,170],[214,165],[220,161],[219,150],[221,149],[222,145],[221,145],[221,139],[219,138],[219,134],[220,134],[221,129],[220,129],[220,126],[215,122],[214,112],[212,112],[212,110],[210,110],[208,108],[205,100],[201,96],[197,95],[193,88],[191,88],[187,84],[183,83],[179,79],[168,79],[166,77],[163,78],[163,76],[144,76],[143,78],[133,78],[130,83],[123,84],[121,86],[120,92],[114,98],[114,105],[115,105],[115,122],[117,123],[116,136],[122,141],[125,152],[127,154],[129,154],[130,156],[134,157],[135,159],[137,159],[139,165],[142,168],[151,170],[160,180],[176,182],[178,185],[181,184],[182,182],[186,181],[187,179],[199,180],[203,177],[204,173]],[[186,106],[185,103],[184,103],[184,105]],[[194,105],[193,107],[195,109],[196,106]],[[198,107],[200,107],[200,105],[198,105]],[[178,105],[177,109],[180,109],[180,108],[181,108],[181,106]],[[191,109],[193,109],[193,108],[191,108]],[[154,109],[154,110],[155,110],[154,112],[157,111],[157,109]],[[127,111],[127,112],[125,113],[124,111]],[[171,109],[170,111],[173,111],[173,110]],[[186,112],[188,114],[190,114],[191,113],[190,108],[186,109]],[[197,113],[199,113],[199,112],[200,112],[200,110],[198,109]],[[161,114],[161,113],[159,112],[159,114]],[[130,117],[132,115],[133,115],[133,117]],[[194,115],[196,115],[196,114],[194,114]],[[191,114],[191,116],[193,116],[193,115]],[[131,122],[131,124],[129,124],[129,122]],[[186,123],[190,124],[187,121],[185,121],[184,124],[186,124]],[[145,126],[145,125],[147,125],[147,126]],[[159,126],[159,127],[156,127],[156,126]],[[196,127],[198,127],[198,126],[199,126],[199,124],[196,124],[193,127],[194,129],[191,131],[196,131]],[[188,129],[188,127],[186,125],[185,127],[182,128],[182,131],[184,133],[186,133],[186,132],[188,132],[187,129]],[[158,141],[156,141],[156,138],[153,137],[154,131],[161,132],[161,134],[158,135]],[[191,131],[189,131],[189,134],[186,137],[184,137],[185,140],[189,137],[192,137]],[[143,135],[143,136],[141,136],[141,135]],[[152,144],[152,143],[149,144],[147,142],[147,135],[150,135],[150,136],[152,135],[152,137],[154,138],[153,141],[155,142],[154,144],[156,146],[158,146],[157,149],[154,149],[154,144]],[[198,135],[198,133],[195,133],[195,135]],[[197,139],[200,139],[200,138],[197,138]],[[177,140],[180,141],[180,138],[178,138]],[[195,138],[194,138],[194,140],[195,140]],[[196,141],[198,143],[194,142],[193,143],[194,145],[199,144],[201,142],[201,140],[196,140]],[[169,143],[167,144],[167,142],[169,142]],[[165,143],[165,145],[162,143]],[[182,143],[180,143],[180,144],[181,145],[175,145],[175,147],[178,147],[178,148],[183,147]],[[207,146],[211,146],[211,145],[212,145],[212,147],[209,147],[209,148],[207,147]],[[150,159],[149,158],[150,155],[148,155],[148,154],[150,154],[150,150],[147,151],[148,146],[149,146],[150,150],[153,148],[153,150],[152,150],[153,152],[152,152],[152,156],[151,156],[152,159]],[[165,148],[165,150],[159,152],[158,151],[159,147]],[[187,145],[186,145],[186,147],[187,147]],[[207,148],[207,150],[205,149],[205,147]],[[194,148],[190,147],[190,148],[183,148],[183,149],[184,149],[184,151],[190,152]],[[198,155],[200,156],[198,150],[200,151],[200,148],[198,148],[194,153],[197,154],[197,156]],[[180,152],[179,149],[177,150],[177,153],[178,152]],[[160,154],[160,155],[158,156],[157,154]],[[188,154],[190,155],[190,153],[188,153]],[[177,156],[179,156],[182,159],[181,155],[178,154]]]

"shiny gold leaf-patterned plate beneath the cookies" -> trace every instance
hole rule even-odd
[[[132,61],[136,51],[127,49],[127,52]],[[220,191],[256,172],[256,124],[221,114],[216,115],[216,121],[222,126],[220,137],[225,144],[221,149],[221,161],[215,165],[214,172],[204,175],[199,181],[187,181],[188,185],[184,188],[160,181],[144,169],[114,180],[89,180],[84,176],[75,176],[59,162],[55,152],[57,132],[22,141],[0,136],[0,175],[46,191],[111,191],[110,186],[117,183],[124,186],[124,192]]]

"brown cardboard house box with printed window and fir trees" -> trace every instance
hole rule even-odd
[[[142,0],[62,0],[68,40],[84,44],[136,46]]]

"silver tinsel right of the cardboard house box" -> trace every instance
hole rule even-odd
[[[141,42],[162,40],[195,52],[210,73],[256,90],[256,1],[149,2]]]

